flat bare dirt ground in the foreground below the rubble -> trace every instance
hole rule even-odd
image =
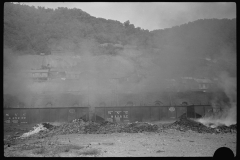
[[[155,124],[160,126],[163,122]],[[32,126],[4,126],[4,138],[22,135]],[[212,157],[219,147],[230,148],[236,156],[236,145],[236,133],[206,134],[167,129],[158,133],[71,134],[29,139],[5,145],[4,156]]]

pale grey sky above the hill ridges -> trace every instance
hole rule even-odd
[[[45,8],[79,8],[97,18],[127,20],[135,27],[171,28],[198,19],[236,18],[234,2],[24,2]]]

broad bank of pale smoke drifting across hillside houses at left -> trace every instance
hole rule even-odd
[[[25,107],[45,107],[48,103],[53,106],[78,103],[79,106],[95,107],[101,102],[108,106],[126,105],[134,99],[134,103],[139,104],[144,93],[165,89],[162,83],[164,72],[153,62],[153,55],[146,54],[151,51],[125,47],[115,54],[107,54],[98,46],[94,40],[82,40],[75,55],[65,51],[65,55],[17,56],[13,51],[5,50],[4,94],[17,97]],[[78,79],[37,83],[26,73],[47,64],[55,70],[66,71],[67,76],[76,73]],[[74,98],[70,98],[70,94]],[[122,98],[124,94],[137,98]],[[147,98],[145,100],[148,101]]]

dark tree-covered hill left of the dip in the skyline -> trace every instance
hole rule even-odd
[[[99,44],[120,41],[123,45],[137,40],[136,44],[142,45],[147,38],[150,38],[148,31],[129,22],[95,18],[81,9],[4,5],[4,45],[15,50],[46,52],[60,41],[78,47],[84,39]]]

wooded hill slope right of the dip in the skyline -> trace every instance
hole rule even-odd
[[[183,47],[188,56],[207,54],[211,57],[223,47],[236,51],[236,19],[200,19],[151,34],[154,46]]]

